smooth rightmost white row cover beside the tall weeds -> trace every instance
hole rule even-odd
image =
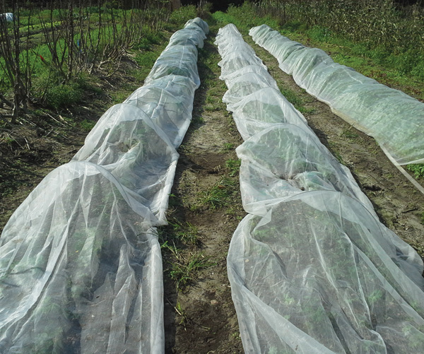
[[[424,103],[335,63],[321,49],[289,40],[267,25],[252,28],[249,35],[307,93],[373,136],[396,164],[424,163]]]

